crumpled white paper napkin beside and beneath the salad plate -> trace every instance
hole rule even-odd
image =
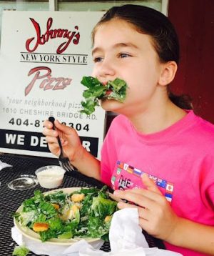
[[[74,245],[49,245],[24,237],[13,227],[12,238],[18,245],[25,245],[36,254],[49,256],[178,256],[177,252],[160,250],[156,247],[148,248],[148,243],[138,225],[138,210],[126,208],[115,212],[111,220],[109,240],[111,252],[98,250],[102,242],[98,241],[91,245],[85,240],[76,242]]]

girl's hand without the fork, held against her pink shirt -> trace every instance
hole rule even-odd
[[[175,215],[169,202],[161,194],[156,184],[147,174],[143,174],[143,184],[146,189],[116,190],[113,194],[121,199],[133,202],[131,205],[125,202],[118,202],[118,208],[138,208],[139,225],[153,237],[170,241],[179,217]]]

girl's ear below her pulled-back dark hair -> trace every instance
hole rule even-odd
[[[158,84],[165,86],[170,84],[175,77],[178,66],[175,61],[168,61],[163,64],[161,76],[159,77]]]

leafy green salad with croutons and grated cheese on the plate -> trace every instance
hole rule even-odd
[[[93,237],[108,240],[113,213],[117,202],[102,189],[81,188],[71,194],[62,190],[24,200],[20,211],[14,214],[21,227],[38,233],[42,242],[51,238],[71,239]]]

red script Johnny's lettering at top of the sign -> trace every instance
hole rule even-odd
[[[63,41],[60,46],[56,49],[57,54],[63,53],[68,48],[68,45],[73,42],[73,44],[78,44],[80,39],[80,34],[78,32],[78,26],[74,26],[76,31],[68,31],[68,29],[51,29],[51,25],[53,23],[53,19],[49,18],[47,21],[47,29],[44,34],[41,34],[41,29],[39,23],[37,23],[34,19],[30,18],[31,22],[34,25],[36,30],[36,37],[31,37],[26,41],[26,50],[29,52],[33,52],[37,49],[37,47],[43,44],[46,44],[49,39],[63,38],[66,41]]]

